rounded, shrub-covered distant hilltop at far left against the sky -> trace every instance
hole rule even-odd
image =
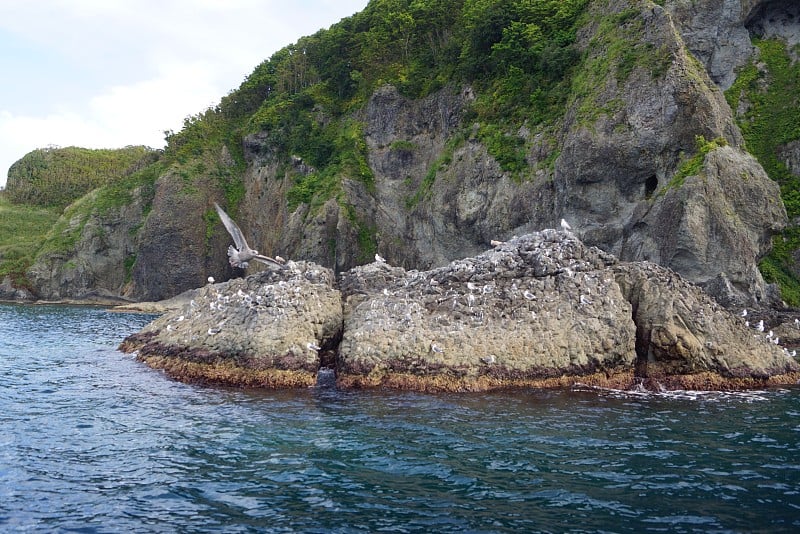
[[[16,204],[63,208],[89,191],[143,168],[156,154],[144,146],[34,150],[8,170],[7,198]]]

